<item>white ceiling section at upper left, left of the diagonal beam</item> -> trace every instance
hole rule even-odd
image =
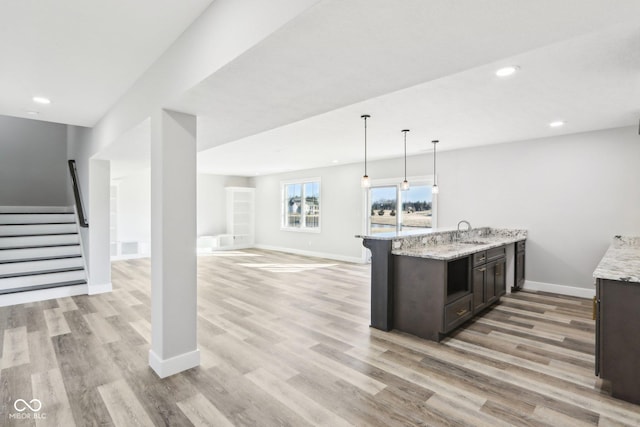
[[[95,125],[211,2],[0,1],[0,114]]]

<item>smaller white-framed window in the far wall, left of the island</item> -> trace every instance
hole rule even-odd
[[[320,179],[282,183],[282,228],[320,231]]]

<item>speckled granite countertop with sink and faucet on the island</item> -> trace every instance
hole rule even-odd
[[[527,231],[520,229],[473,228],[469,231],[434,229],[421,233],[383,233],[372,236],[356,236],[373,240],[392,240],[393,255],[452,260],[483,250],[515,243],[527,238]]]

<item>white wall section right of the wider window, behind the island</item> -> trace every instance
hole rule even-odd
[[[640,235],[636,127],[442,154],[440,225],[528,229],[528,281],[593,290],[611,238]]]

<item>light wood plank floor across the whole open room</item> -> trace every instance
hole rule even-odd
[[[160,380],[149,260],[115,262],[112,293],[0,308],[0,425],[640,425],[593,374],[590,301],[503,297],[436,344],[369,328],[368,284],[366,265],[200,257],[202,365]]]

